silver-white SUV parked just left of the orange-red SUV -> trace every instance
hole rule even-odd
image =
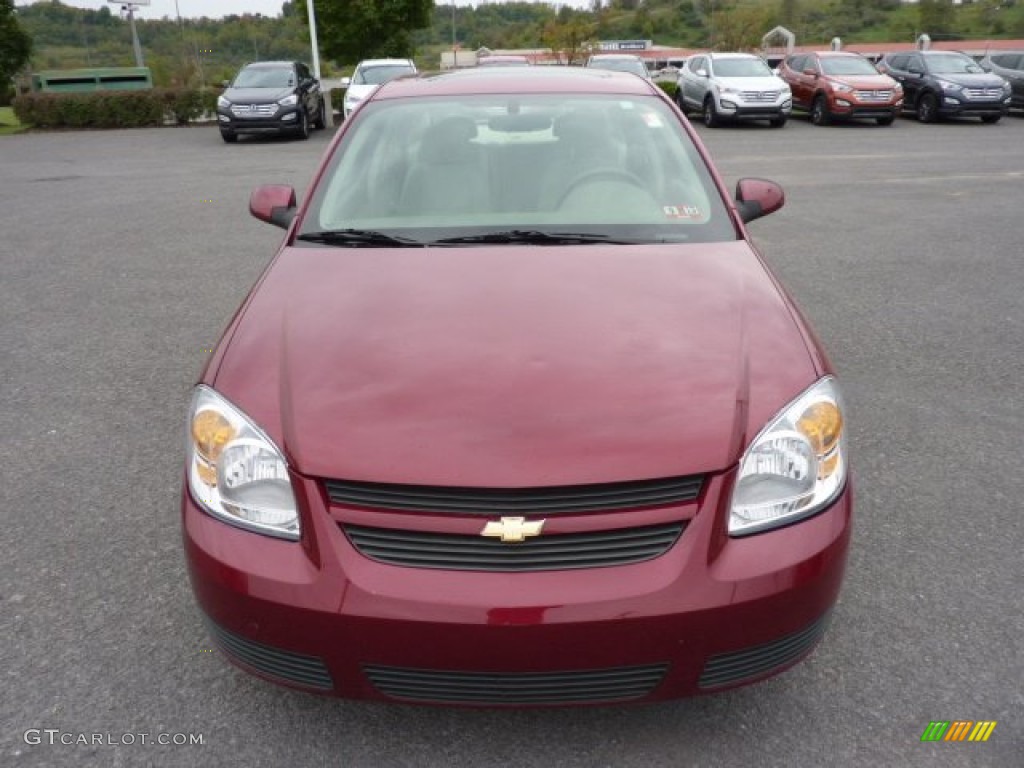
[[[676,103],[703,115],[709,128],[725,120],[767,120],[781,128],[793,110],[784,80],[752,53],[700,53],[679,72]]]

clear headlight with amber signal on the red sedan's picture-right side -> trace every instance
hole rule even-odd
[[[819,512],[842,492],[847,465],[843,401],[829,376],[786,406],[743,453],[729,534],[756,534]]]

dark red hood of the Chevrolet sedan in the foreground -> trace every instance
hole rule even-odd
[[[286,248],[218,355],[302,474],[495,487],[725,469],[820,375],[742,241]]]

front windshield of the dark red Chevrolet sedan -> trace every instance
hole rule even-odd
[[[738,237],[662,99],[536,93],[369,103],[303,219],[303,239],[327,232],[359,247]]]

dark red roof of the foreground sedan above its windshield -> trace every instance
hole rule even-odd
[[[495,67],[391,80],[374,99],[501,93],[609,93],[650,95],[656,86],[626,72],[585,67]],[[659,90],[659,89],[657,89]]]

